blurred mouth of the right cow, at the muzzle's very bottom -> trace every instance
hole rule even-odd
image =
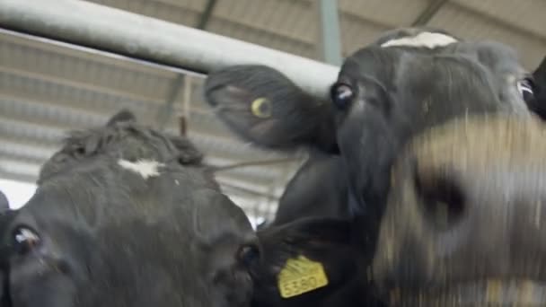
[[[487,279],[421,291],[393,289],[390,306],[544,306],[546,282]]]

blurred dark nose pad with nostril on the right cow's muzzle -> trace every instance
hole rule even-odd
[[[546,257],[546,169],[489,159],[482,168],[421,162],[413,180],[417,214],[436,256],[480,260],[492,275],[534,276],[533,266],[524,267]]]

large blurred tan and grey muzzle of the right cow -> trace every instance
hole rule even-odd
[[[385,302],[546,304],[546,125],[457,119],[392,169],[372,265]]]

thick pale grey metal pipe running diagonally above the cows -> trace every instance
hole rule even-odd
[[[0,26],[204,74],[240,64],[271,66],[318,97],[326,97],[339,72],[337,66],[86,1],[0,0]]]

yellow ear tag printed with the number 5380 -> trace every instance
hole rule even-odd
[[[328,278],[320,262],[299,256],[286,260],[285,268],[277,276],[278,291],[283,298],[311,292],[328,285]]]

